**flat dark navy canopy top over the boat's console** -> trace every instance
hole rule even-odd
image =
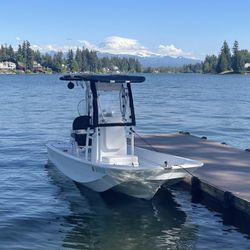
[[[117,82],[117,83],[135,83],[144,82],[144,76],[133,76],[133,75],[65,75],[60,77],[63,81],[90,81],[90,82]]]

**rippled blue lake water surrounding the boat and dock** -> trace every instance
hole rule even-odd
[[[250,148],[250,76],[145,76],[133,85],[137,131]],[[69,138],[81,99],[58,79],[0,75],[0,249],[250,249],[248,230],[182,188],[100,196],[47,164],[45,143]]]

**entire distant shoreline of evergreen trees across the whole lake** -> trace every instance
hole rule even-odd
[[[250,52],[240,50],[238,41],[234,42],[230,50],[224,41],[220,53],[207,55],[201,63],[188,64],[181,67],[145,67],[135,58],[103,57],[98,58],[97,52],[87,48],[77,48],[76,51],[68,50],[43,54],[32,49],[29,41],[24,41],[14,50],[11,45],[0,46],[0,62],[10,61],[17,65],[17,69],[25,72],[52,71],[63,72],[144,72],[144,73],[241,73],[245,64],[250,63]],[[40,68],[39,68],[40,67]],[[39,69],[38,69],[39,68]]]

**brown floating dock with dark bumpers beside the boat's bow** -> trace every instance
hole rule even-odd
[[[142,140],[143,139],[143,140]],[[189,133],[150,134],[137,137],[136,145],[199,160],[204,166],[186,178],[193,194],[204,192],[250,215],[250,152]],[[152,145],[152,147],[151,147]]]

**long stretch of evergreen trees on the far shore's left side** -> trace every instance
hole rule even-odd
[[[87,48],[78,48],[75,52],[70,49],[42,54],[32,49],[29,41],[18,45],[17,51],[11,45],[1,45],[0,62],[11,61],[17,68],[24,71],[34,71],[34,63],[55,73],[63,72],[141,72],[142,66],[137,59],[125,57],[98,58],[97,52]]]

